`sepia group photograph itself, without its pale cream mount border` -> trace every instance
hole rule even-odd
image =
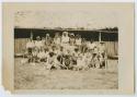
[[[62,4],[13,15],[14,89],[118,89],[115,10]]]

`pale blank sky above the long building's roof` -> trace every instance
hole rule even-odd
[[[88,29],[117,26],[116,10],[100,7],[55,7],[42,10],[21,10],[14,13],[18,27],[62,27]]]

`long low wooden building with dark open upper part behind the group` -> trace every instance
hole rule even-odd
[[[25,49],[27,38],[33,35],[33,39],[36,36],[45,37],[48,33],[54,37],[55,33],[62,33],[67,31],[68,33],[73,33],[75,35],[80,34],[82,38],[87,40],[94,40],[96,43],[104,41],[106,46],[106,51],[109,57],[118,56],[118,29],[59,29],[59,28],[14,28],[14,52],[21,53],[22,49]]]

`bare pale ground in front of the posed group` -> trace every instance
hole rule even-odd
[[[117,89],[117,60],[109,60],[107,69],[87,71],[46,70],[44,64],[21,64],[15,58],[15,89]]]

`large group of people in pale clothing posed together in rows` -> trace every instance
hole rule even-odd
[[[30,38],[26,53],[28,63],[44,63],[48,70],[105,68],[107,59],[104,43],[95,44],[68,32],[56,33],[53,38],[49,34]]]

